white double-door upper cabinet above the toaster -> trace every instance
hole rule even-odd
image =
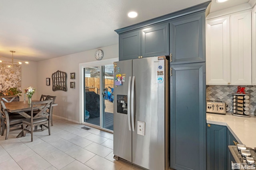
[[[206,20],[206,84],[252,84],[251,11]]]

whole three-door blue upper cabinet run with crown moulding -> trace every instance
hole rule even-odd
[[[171,53],[172,64],[205,62],[205,13],[210,2],[116,29],[119,60]]]

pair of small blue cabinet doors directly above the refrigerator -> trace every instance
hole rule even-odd
[[[119,61],[169,55],[169,23],[119,35]]]

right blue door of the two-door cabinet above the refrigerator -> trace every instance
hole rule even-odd
[[[142,57],[169,55],[169,24],[163,23],[142,29]]]

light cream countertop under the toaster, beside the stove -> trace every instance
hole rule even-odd
[[[226,115],[206,113],[206,123],[227,126],[240,144],[256,147],[256,116],[239,117],[231,113]]]

